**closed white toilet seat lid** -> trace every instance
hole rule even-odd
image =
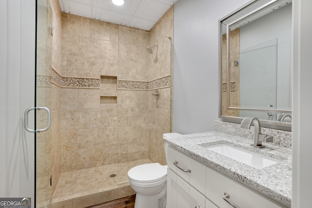
[[[128,171],[128,176],[133,182],[154,183],[167,177],[167,166],[159,163],[138,165]]]

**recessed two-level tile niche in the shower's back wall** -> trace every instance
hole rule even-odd
[[[100,93],[105,93],[100,96],[101,104],[117,104],[117,77],[101,76]]]

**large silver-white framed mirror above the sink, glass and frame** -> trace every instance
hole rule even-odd
[[[251,0],[219,20],[222,121],[292,127],[292,0]]]

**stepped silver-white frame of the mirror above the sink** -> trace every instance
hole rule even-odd
[[[246,4],[242,5],[238,9],[234,10],[232,13],[229,15],[221,18],[219,20],[219,118],[221,121],[226,121],[226,122],[232,122],[232,123],[241,123],[244,118],[242,117],[234,117],[234,116],[223,116],[222,115],[222,26],[223,26],[223,21],[228,19],[229,17],[243,11],[245,8],[251,6],[254,3],[261,2],[263,0],[251,0],[247,2]],[[227,51],[226,51],[226,56],[227,56],[227,63],[226,63],[226,68],[227,68],[227,102],[226,102],[226,107],[227,109],[231,110],[244,110],[244,111],[250,111],[250,112],[270,112],[270,113],[292,113],[292,110],[282,110],[282,109],[257,109],[257,108],[240,108],[240,107],[230,107],[230,63],[229,63],[229,26],[235,24],[236,22],[240,21],[241,19],[245,17],[252,17],[256,13],[259,13],[260,11],[263,11],[263,9],[266,9],[277,2],[281,0],[270,0],[269,2],[265,3],[264,1],[263,5],[261,5],[258,8],[253,9],[252,12],[248,12],[246,15],[243,15],[242,17],[238,17],[234,21],[231,21],[230,24],[227,24],[227,29],[226,29],[226,34],[227,34]],[[291,92],[290,92],[291,93]],[[292,131],[292,123],[290,122],[280,122],[280,121],[270,121],[270,120],[260,120],[261,126],[266,127],[266,128],[272,128],[272,129],[279,129],[279,130],[285,130],[285,131]]]

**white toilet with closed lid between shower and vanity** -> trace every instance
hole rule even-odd
[[[179,136],[177,133],[163,137]],[[165,144],[167,159],[167,146]],[[137,192],[135,208],[166,208],[167,205],[167,165],[149,163],[138,165],[128,171],[131,188]]]

